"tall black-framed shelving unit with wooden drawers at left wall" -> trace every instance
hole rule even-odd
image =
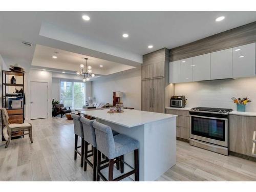
[[[14,76],[17,84],[10,83],[10,77]],[[20,82],[22,81],[22,82]],[[2,71],[2,106],[6,108],[9,115],[10,123],[24,123],[25,120],[25,110],[24,110],[24,73],[23,72],[12,72],[12,71]],[[23,89],[23,94],[14,94],[15,89],[17,90]],[[13,93],[14,92],[14,93]],[[12,105],[9,104],[9,99],[21,99],[20,108],[13,108]],[[2,131],[4,129],[4,125],[2,125]],[[17,132],[15,136],[22,135],[23,132]],[[4,136],[2,134],[2,140],[4,140]]]

